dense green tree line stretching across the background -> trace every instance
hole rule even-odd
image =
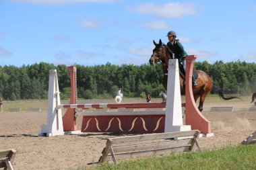
[[[162,65],[144,64],[84,66],[77,68],[77,97],[82,99],[115,97],[122,88],[125,97],[159,97],[162,87]],[[49,70],[57,69],[61,99],[69,99],[70,79],[66,65],[46,62],[22,67],[0,66],[0,97],[5,100],[47,99]],[[195,69],[205,71],[225,94],[249,95],[256,91],[256,64],[195,62]]]

